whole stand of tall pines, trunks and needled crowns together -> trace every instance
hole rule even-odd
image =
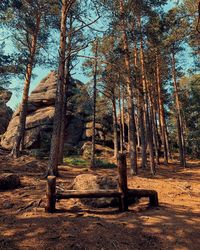
[[[0,19],[0,85],[24,81],[13,155],[24,148],[33,72],[46,67],[58,72],[51,172],[63,141],[65,92],[77,71],[93,103],[93,132],[96,122],[112,130],[114,156],[128,150],[134,174],[140,153],[143,168],[149,155],[152,174],[161,155],[167,164],[178,153],[182,166],[187,155],[200,157],[199,1],[3,0]]]

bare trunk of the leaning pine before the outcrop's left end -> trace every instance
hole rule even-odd
[[[36,17],[35,33],[32,35],[30,54],[29,54],[28,64],[26,66],[26,75],[25,75],[25,81],[24,81],[22,103],[20,106],[20,114],[19,114],[19,125],[17,128],[14,145],[13,145],[13,149],[11,152],[11,155],[14,158],[19,157],[20,149],[24,148],[26,115],[27,115],[27,107],[28,107],[28,94],[29,94],[33,64],[34,64],[36,48],[37,48],[38,33],[40,30],[40,21],[41,21],[41,15],[38,15]]]

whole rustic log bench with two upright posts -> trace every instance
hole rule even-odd
[[[49,176],[47,178],[47,205],[46,212],[53,213],[56,210],[56,201],[71,198],[102,198],[116,197],[119,198],[119,210],[128,210],[128,198],[148,197],[151,206],[158,206],[158,194],[154,190],[144,189],[128,189],[127,188],[127,167],[126,157],[120,154],[118,159],[118,190],[98,190],[98,191],[76,191],[66,190],[63,193],[56,193],[56,177]]]

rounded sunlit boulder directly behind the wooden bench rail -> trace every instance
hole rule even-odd
[[[100,177],[93,174],[81,174],[76,176],[71,188],[78,191],[117,189],[117,180],[108,176]],[[91,207],[109,207],[118,204],[116,198],[81,199],[81,202]]]

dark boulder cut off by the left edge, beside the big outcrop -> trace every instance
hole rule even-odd
[[[10,91],[0,87],[0,135],[6,131],[12,117],[12,109],[6,105],[11,96]]]

